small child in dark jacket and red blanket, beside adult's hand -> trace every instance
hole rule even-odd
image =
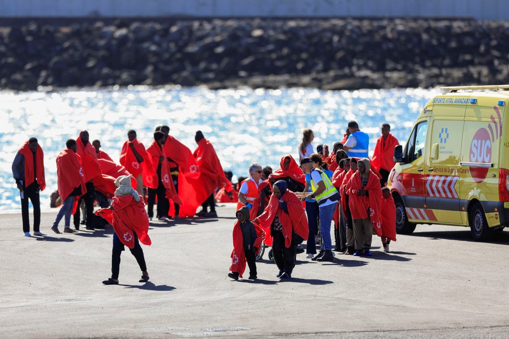
[[[228,273],[228,276],[233,280],[239,280],[239,276],[242,278],[242,273],[244,273],[246,267],[245,262],[247,261],[247,265],[249,265],[248,279],[256,280],[256,252],[258,249],[254,247],[254,242],[257,240],[257,233],[254,225],[249,221],[249,208],[242,206],[237,211],[236,217],[238,222],[235,223],[233,230],[234,250],[232,253],[232,265],[230,266],[232,272]],[[239,236],[242,236],[242,241],[235,241],[236,239],[240,240]],[[242,252],[244,252],[244,256]]]

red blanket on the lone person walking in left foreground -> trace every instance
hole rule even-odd
[[[149,216],[145,210],[143,197],[139,197],[139,202],[136,202],[132,195],[114,197],[111,204],[114,210],[101,208],[95,211],[96,215],[113,225],[120,241],[130,249],[134,248],[134,233],[143,244],[152,243],[148,235]]]

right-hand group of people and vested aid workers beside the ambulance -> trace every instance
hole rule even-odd
[[[314,133],[306,129],[299,145],[299,164],[291,155],[283,156],[280,167],[266,180],[262,180],[261,165],[251,164],[239,191],[230,278],[242,277],[247,262],[249,279],[257,279],[254,258],[262,241],[272,246],[280,279],[291,278],[304,240],[307,258],[332,261],[332,221],[335,252],[371,256],[374,233],[389,252],[390,241],[396,240],[395,206],[386,183],[399,142],[388,124],[381,131],[371,160],[369,135],[356,121],[349,121],[343,140],[334,143],[331,153],[323,144],[315,152]],[[321,245],[318,253],[317,244]]]

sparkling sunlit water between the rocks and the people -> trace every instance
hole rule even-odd
[[[356,119],[370,134],[370,153],[383,122],[404,143],[423,105],[438,89],[322,91],[318,89],[225,89],[134,86],[126,89],[67,89],[59,92],[0,91],[0,209],[19,209],[11,165],[17,149],[35,136],[44,149],[47,188],[41,207],[49,208],[56,190],[55,158],[65,141],[87,129],[102,150],[118,161],[127,131],[134,129],[148,146],[154,127],[191,150],[194,133],[213,143],[224,170],[245,176],[252,162],[279,166],[282,155],[298,159],[302,130],[315,131],[313,145],[343,138],[347,121]]]

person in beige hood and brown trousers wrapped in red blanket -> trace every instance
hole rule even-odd
[[[370,160],[362,158],[357,163],[355,172],[346,185],[349,195],[350,212],[352,213],[355,254],[354,256],[371,256],[373,230],[382,235],[380,211],[382,189],[378,176],[370,170]]]

